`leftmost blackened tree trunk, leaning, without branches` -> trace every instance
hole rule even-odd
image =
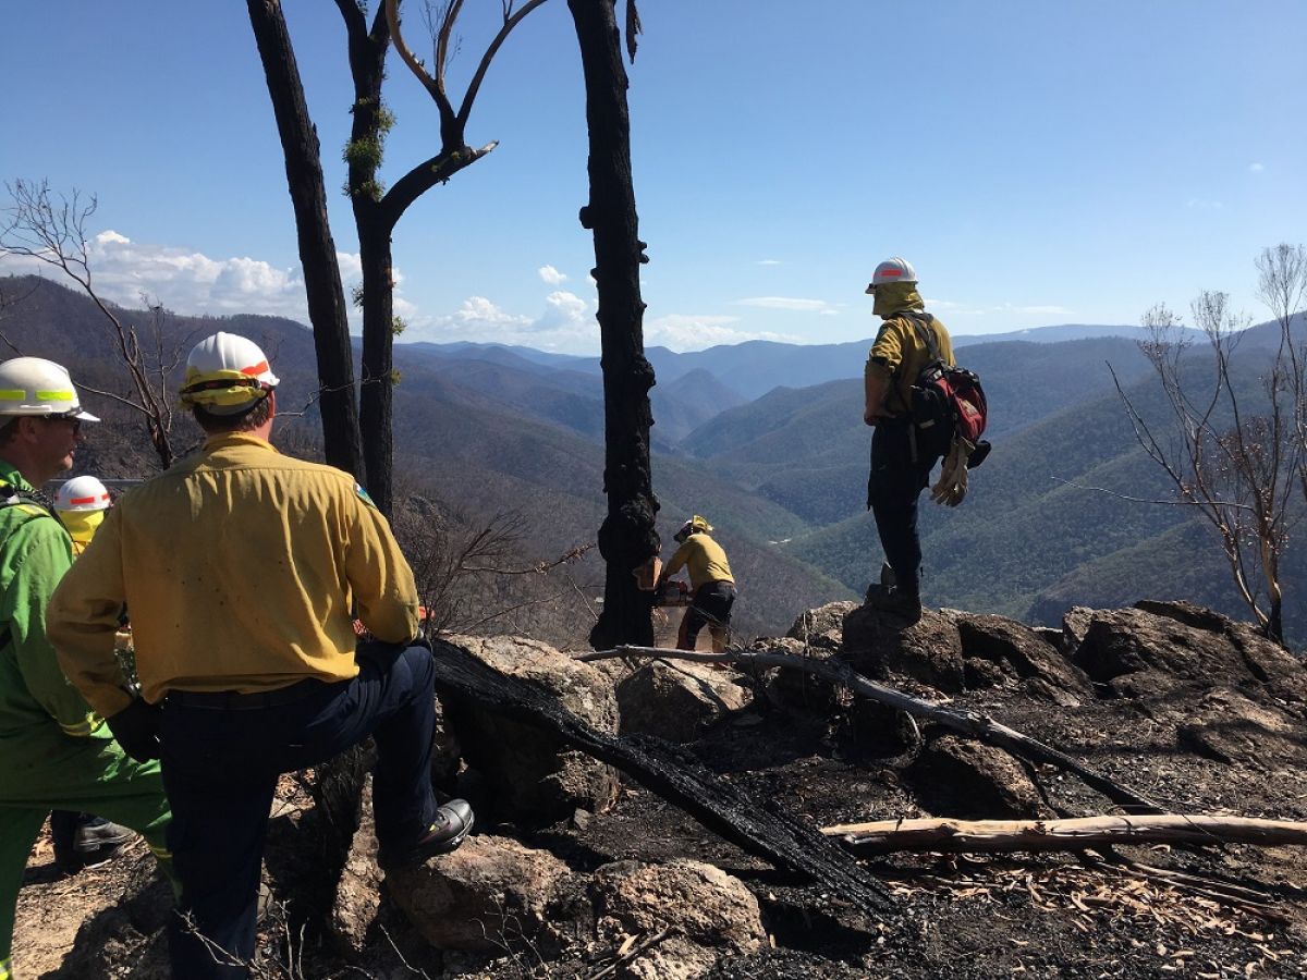
[[[299,67],[280,0],[247,0],[247,7],[268,80],[268,95],[277,118],[281,149],[286,157],[286,183],[295,212],[299,261],[305,269],[305,290],[308,297],[308,321],[314,328],[314,348],[318,354],[323,449],[327,463],[362,480],[354,361],[336,243],[327,221],[327,191],[318,131],[308,118]]]

